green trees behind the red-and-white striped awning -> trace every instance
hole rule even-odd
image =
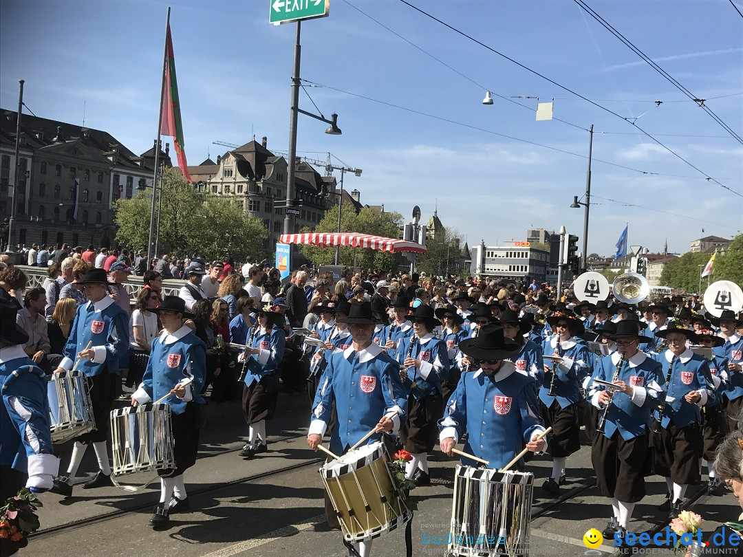
[[[340,231],[360,232],[386,238],[400,237],[400,224],[403,216],[397,212],[381,212],[376,207],[364,207],[357,215],[354,207],[347,203],[341,207]],[[313,231],[303,228],[302,232],[337,232],[338,207],[332,206],[325,212]],[[335,262],[334,247],[319,247],[301,245],[299,250],[310,261],[319,267],[331,265]],[[341,247],[338,264],[360,269],[396,269],[402,256],[399,253],[380,252],[368,248]]]

